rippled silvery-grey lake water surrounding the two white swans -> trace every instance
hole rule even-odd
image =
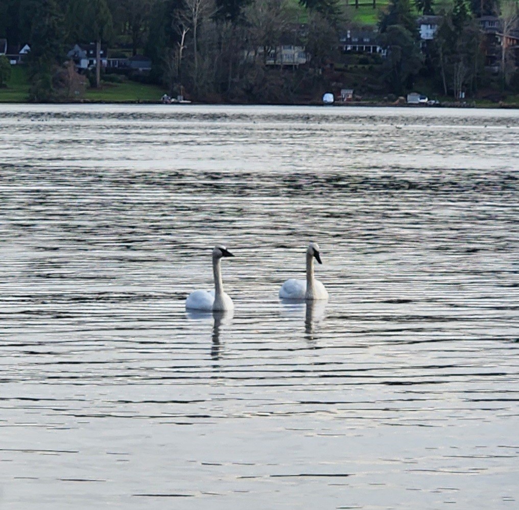
[[[0,107],[0,507],[519,506],[519,113]],[[328,303],[283,304],[308,242]],[[225,243],[234,314],[186,314]]]

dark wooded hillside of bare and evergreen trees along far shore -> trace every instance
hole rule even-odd
[[[366,26],[354,17],[359,0],[0,0],[0,39],[30,45],[28,99],[37,102],[114,79],[100,66],[81,79],[66,56],[76,43],[105,46],[108,57],[147,56],[151,71],[133,79],[205,102],[301,103],[342,87],[386,99],[416,88],[453,99],[519,93],[517,44],[502,44],[516,41],[517,0],[368,4],[378,14]],[[423,15],[439,20],[432,40],[420,40]],[[498,20],[490,37],[485,16]],[[361,29],[383,51],[346,52],[345,34]],[[286,45],[304,48],[303,64],[276,65]],[[9,72],[0,56],[0,86]]]

